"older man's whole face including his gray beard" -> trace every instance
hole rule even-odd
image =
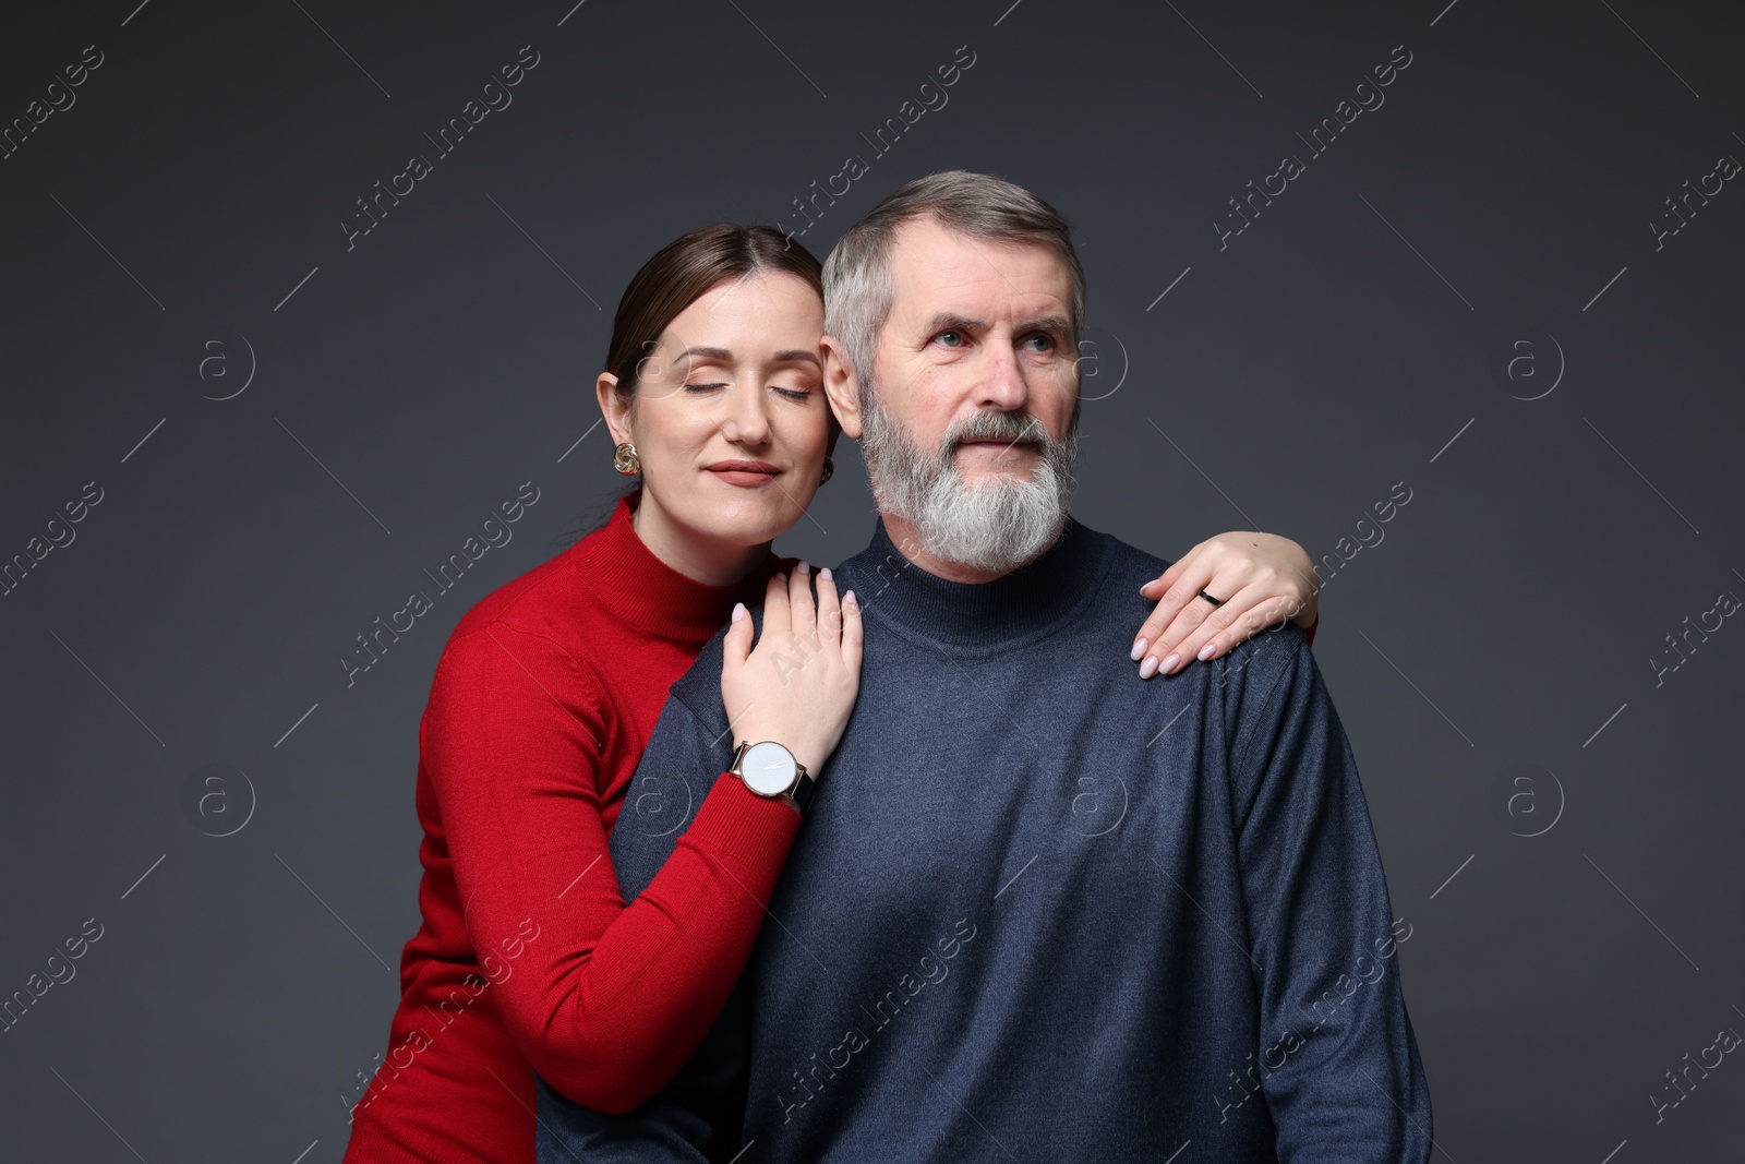
[[[1071,503],[1071,276],[1052,246],[930,220],[899,227],[890,258],[892,311],[859,393],[872,496],[958,581],[1009,574],[1054,544]]]

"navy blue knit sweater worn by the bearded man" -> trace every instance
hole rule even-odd
[[[742,1164],[1426,1161],[1405,928],[1321,674],[1288,625],[1141,681],[1164,565],[1070,522],[949,583],[879,524],[836,574],[860,698],[740,991],[626,1117],[541,1085],[541,1161],[700,1161],[688,1108],[736,1080]],[[731,749],[717,637],[612,834],[626,897]]]

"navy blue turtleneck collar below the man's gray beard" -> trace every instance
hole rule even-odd
[[[1035,562],[989,583],[955,583],[914,565],[879,518],[872,543],[843,562],[862,609],[939,646],[1000,651],[1077,618],[1110,565],[1110,543],[1066,518],[1059,539]]]

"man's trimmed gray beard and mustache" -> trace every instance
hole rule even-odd
[[[881,513],[914,527],[935,558],[975,571],[1009,574],[1035,562],[1061,536],[1073,497],[1078,417],[1061,440],[1024,412],[977,412],[953,424],[937,454],[923,452],[878,398],[862,393],[860,455]],[[1035,442],[1042,455],[1031,480],[996,475],[972,485],[956,462],[958,442],[995,438]]]

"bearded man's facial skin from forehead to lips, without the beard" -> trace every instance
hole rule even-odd
[[[902,223],[892,243],[895,295],[879,332],[872,380],[886,414],[923,452],[941,452],[977,412],[1028,414],[1049,438],[1071,429],[1078,349],[1071,274],[1044,243],[989,243],[932,218]],[[1031,480],[1035,440],[955,442],[963,482]]]

